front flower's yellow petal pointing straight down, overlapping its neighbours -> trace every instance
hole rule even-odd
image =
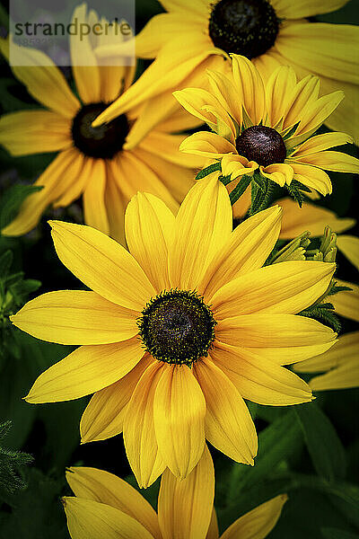
[[[186,365],[162,365],[153,402],[154,428],[164,462],[184,479],[205,447],[206,401]]]

